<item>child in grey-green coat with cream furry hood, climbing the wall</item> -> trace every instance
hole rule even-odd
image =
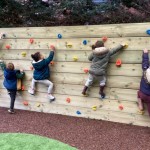
[[[89,77],[85,83],[82,94],[86,96],[86,91],[89,86],[92,85],[93,81],[96,79],[99,81],[100,89],[99,94],[100,98],[105,98],[104,88],[106,84],[106,68],[108,61],[111,56],[117,53],[120,49],[124,48],[125,44],[120,44],[116,48],[113,48],[109,51],[108,48],[104,46],[103,41],[97,41],[92,45],[92,53],[89,55],[89,61],[92,61],[92,64],[89,69]]]

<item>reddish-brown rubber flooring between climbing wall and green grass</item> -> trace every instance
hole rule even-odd
[[[79,150],[150,150],[150,128],[107,121],[0,108],[1,133],[30,133]]]

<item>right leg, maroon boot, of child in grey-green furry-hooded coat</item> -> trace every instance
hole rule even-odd
[[[100,76],[99,81],[100,81],[100,89],[99,89],[100,98],[105,98],[104,88],[106,85],[106,77]]]

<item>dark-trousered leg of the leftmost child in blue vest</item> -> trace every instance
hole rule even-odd
[[[8,94],[10,95],[10,111],[14,111],[14,104],[16,99],[16,92],[15,90],[8,90]]]

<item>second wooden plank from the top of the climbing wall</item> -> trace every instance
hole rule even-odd
[[[1,49],[5,50],[6,45],[10,45],[11,50],[19,49],[50,49],[50,45],[55,45],[57,50],[87,50],[91,51],[91,45],[97,40],[96,38],[86,38],[87,45],[83,44],[85,38],[78,39],[34,39],[31,44],[29,39],[3,39],[1,41]],[[67,43],[70,43],[72,47],[68,47]],[[128,43],[126,50],[142,50],[150,45],[149,37],[122,37],[122,38],[109,38],[105,42],[105,46],[108,48],[116,47],[119,43]],[[144,47],[143,47],[144,46]]]

